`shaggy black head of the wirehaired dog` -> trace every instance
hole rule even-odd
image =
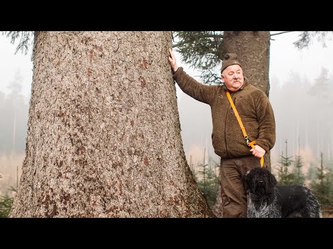
[[[259,196],[271,194],[277,184],[275,176],[264,167],[255,167],[246,172],[243,180],[246,193]]]

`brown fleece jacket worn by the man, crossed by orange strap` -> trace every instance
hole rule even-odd
[[[239,126],[234,111],[225,93],[224,85],[204,85],[187,75],[182,67],[173,73],[175,80],[187,95],[209,104],[212,111],[212,145],[221,158],[238,158],[250,156],[243,132]],[[266,94],[248,83],[244,77],[241,89],[230,92],[234,105],[244,124],[250,141],[256,140],[256,145],[266,152],[275,144],[275,118],[271,103]]]

